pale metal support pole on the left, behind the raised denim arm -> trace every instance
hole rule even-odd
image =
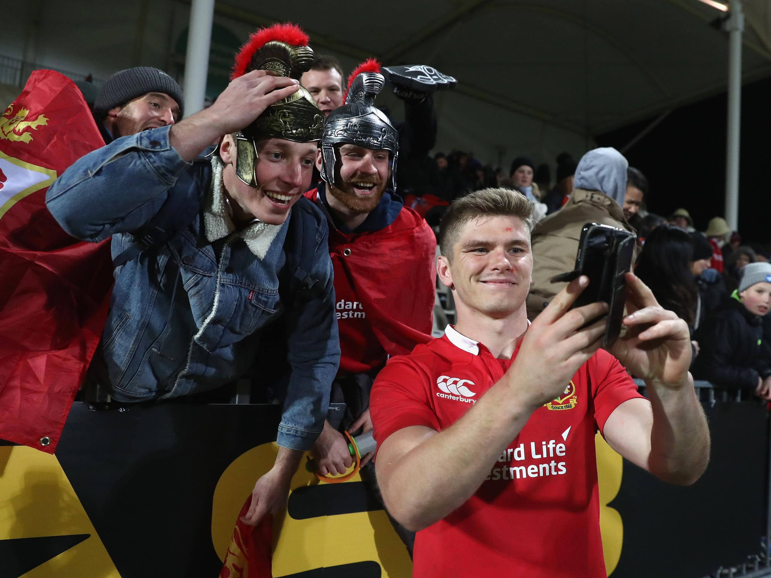
[[[186,117],[204,109],[213,20],[214,0],[193,0],[190,5],[190,28],[187,29],[183,86]]]

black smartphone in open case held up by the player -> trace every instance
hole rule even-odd
[[[586,223],[581,230],[581,239],[578,240],[574,270],[551,280],[556,283],[573,281],[581,275],[589,277],[589,286],[577,297],[571,309],[598,301],[608,304],[608,326],[605,328],[603,348],[609,348],[621,334],[626,300],[624,275],[631,269],[635,238],[635,234],[628,230]]]

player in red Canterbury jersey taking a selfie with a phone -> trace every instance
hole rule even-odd
[[[688,326],[627,274],[628,331],[599,349],[607,304],[570,310],[580,277],[530,326],[532,204],[487,189],[450,205],[439,279],[457,324],[392,358],[370,402],[392,516],[417,530],[413,576],[605,576],[594,433],[660,479],[704,471],[709,430]],[[554,547],[571,544],[569,556]]]

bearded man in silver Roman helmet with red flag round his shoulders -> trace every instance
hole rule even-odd
[[[307,193],[328,218],[342,357],[333,397],[345,400],[342,428],[372,428],[369,388],[389,355],[429,341],[436,240],[396,196],[399,136],[374,106],[385,79],[368,61],[349,80],[345,105],[327,117],[316,165],[325,183]],[[352,463],[329,423],[313,449],[322,473]],[[369,457],[365,462],[369,462]]]

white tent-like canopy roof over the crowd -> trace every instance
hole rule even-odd
[[[771,8],[743,4],[747,81],[771,74]],[[140,65],[181,72],[175,42],[189,14],[177,0],[29,0],[0,55],[102,79]],[[348,69],[370,55],[435,66],[459,82],[436,99],[437,149],[505,165],[519,154],[580,156],[595,134],[725,90],[727,35],[709,25],[724,15],[699,0],[228,0],[215,5],[214,25],[243,42],[259,25],[297,22],[316,52]],[[227,69],[222,60],[213,56],[210,75]]]

